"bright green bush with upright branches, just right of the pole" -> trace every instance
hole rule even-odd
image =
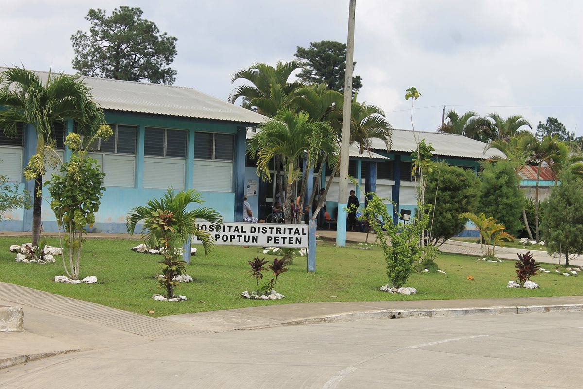
[[[375,192],[366,195],[369,200],[360,220],[368,220],[371,229],[377,234],[376,243],[385,255],[391,286],[401,288],[413,272],[413,264],[423,259],[424,250],[419,240],[429,222],[428,212],[417,212],[415,218],[405,227],[398,227],[392,223],[387,205],[382,202],[382,199]],[[396,205],[393,204],[393,206]],[[421,204],[417,206],[422,208]],[[427,208],[430,210],[431,206]],[[391,239],[390,246],[387,243],[387,237]]]

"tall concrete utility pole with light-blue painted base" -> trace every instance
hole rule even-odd
[[[346,43],[346,77],[344,79],[344,110],[340,141],[340,186],[338,191],[338,222],[336,246],[346,247],[346,206],[348,205],[348,150],[350,148],[350,108],[352,107],[352,69],[354,68],[354,15],[356,0],[350,0],[348,40]]]

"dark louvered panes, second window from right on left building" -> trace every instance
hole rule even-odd
[[[177,129],[146,128],[144,155],[186,157],[187,132]]]

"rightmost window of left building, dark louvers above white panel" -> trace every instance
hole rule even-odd
[[[213,132],[194,133],[194,187],[201,191],[231,192],[235,137]]]

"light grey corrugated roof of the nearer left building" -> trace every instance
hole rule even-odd
[[[0,66],[0,72],[7,68]],[[41,80],[48,72],[34,71]],[[260,115],[198,90],[173,85],[81,77],[92,89],[93,101],[104,110],[172,115],[258,124]]]

